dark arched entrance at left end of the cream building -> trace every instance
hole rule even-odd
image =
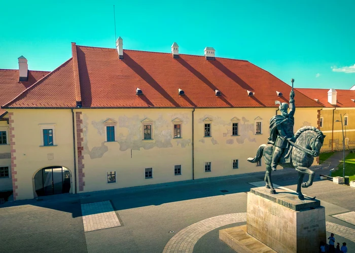
[[[68,193],[70,191],[70,171],[61,166],[40,169],[34,175],[34,189],[37,196]]]

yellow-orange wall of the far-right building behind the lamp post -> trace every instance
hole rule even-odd
[[[343,150],[343,135],[340,122],[334,122],[334,131],[332,138],[332,124],[333,124],[334,108],[324,108],[321,110],[321,117],[323,117],[323,127],[320,129],[326,135],[323,152],[332,150]],[[348,144],[345,142],[345,149],[355,149],[355,108],[337,108],[334,111],[334,121],[340,120],[342,117],[348,116],[348,126],[344,126],[344,138],[349,138]],[[333,140],[333,141],[332,141]]]

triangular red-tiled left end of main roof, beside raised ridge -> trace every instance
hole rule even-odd
[[[75,107],[73,67],[70,58],[4,107]]]

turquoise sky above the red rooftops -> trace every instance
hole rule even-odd
[[[53,70],[72,57],[70,42],[248,60],[302,88],[355,84],[355,1],[3,1],[0,68]]]

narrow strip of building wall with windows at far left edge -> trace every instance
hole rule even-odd
[[[9,167],[9,178],[0,178],[0,191],[12,190],[10,136],[9,125],[6,120],[0,121],[0,131],[6,131],[7,144],[0,144],[0,167]]]

